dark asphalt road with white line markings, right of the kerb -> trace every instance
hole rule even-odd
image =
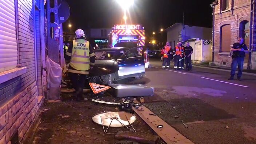
[[[195,143],[256,144],[256,76],[229,81],[229,72],[163,70],[161,61],[152,59],[151,64],[143,79],[118,83],[154,87],[155,95],[147,97],[145,106]]]

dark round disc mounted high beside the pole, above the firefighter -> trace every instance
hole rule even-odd
[[[65,0],[58,0],[59,23],[64,23],[70,15],[70,8]]]

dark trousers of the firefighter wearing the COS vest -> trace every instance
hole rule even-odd
[[[68,76],[70,77],[72,87],[78,93],[77,96],[82,96],[87,75],[69,72]]]

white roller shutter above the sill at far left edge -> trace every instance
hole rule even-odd
[[[16,68],[17,60],[14,0],[0,0],[0,72]]]

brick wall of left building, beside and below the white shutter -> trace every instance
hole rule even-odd
[[[20,64],[27,67],[27,73],[0,84],[0,98],[8,100],[0,101],[0,144],[8,143],[15,132],[18,132],[20,142],[40,106],[35,76],[35,34],[30,29],[30,18],[32,22],[34,20],[33,2],[17,1]]]

